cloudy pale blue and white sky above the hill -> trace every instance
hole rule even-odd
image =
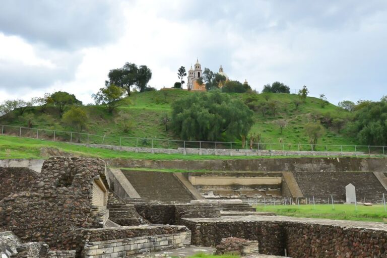
[[[146,64],[171,87],[196,62],[256,90],[387,95],[385,0],[0,0],[0,101],[57,90],[85,104],[110,69]]]

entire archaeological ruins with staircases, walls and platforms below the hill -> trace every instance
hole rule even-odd
[[[166,172],[176,169],[186,172]],[[251,258],[387,257],[385,223],[252,207],[345,203],[348,184],[357,200],[381,203],[387,159],[3,160],[0,255],[182,257],[202,248]]]

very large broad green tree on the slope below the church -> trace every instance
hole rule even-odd
[[[240,139],[250,130],[252,115],[241,100],[214,90],[173,102],[171,127],[184,140]]]

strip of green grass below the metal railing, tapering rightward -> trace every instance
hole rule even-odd
[[[229,159],[257,159],[257,158],[292,158],[292,156],[214,156],[214,155],[182,155],[182,154],[151,154],[126,151],[113,151],[99,148],[72,145],[63,142],[43,141],[13,136],[0,136],[0,159],[42,159],[42,148],[55,148],[62,152],[83,157],[122,158],[147,160],[229,160]],[[302,157],[302,156],[294,156]],[[308,156],[303,156],[308,157]],[[318,156],[313,156],[318,157]]]

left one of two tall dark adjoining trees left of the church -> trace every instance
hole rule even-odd
[[[137,85],[139,68],[135,63],[126,62],[122,68],[110,70],[109,83],[126,90],[127,96],[131,95],[131,87]]]

